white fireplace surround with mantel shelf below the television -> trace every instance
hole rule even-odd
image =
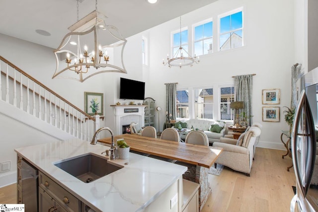
[[[122,134],[122,126],[136,122],[140,128],[145,125],[145,107],[147,105],[110,105],[114,109],[115,135]]]

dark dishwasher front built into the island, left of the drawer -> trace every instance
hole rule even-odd
[[[25,212],[38,212],[38,170],[22,159],[21,175]]]

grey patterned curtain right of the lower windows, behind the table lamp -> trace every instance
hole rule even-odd
[[[239,75],[234,77],[234,88],[235,88],[235,98],[236,101],[244,102],[244,108],[239,109],[235,112],[235,117],[237,113],[245,112],[247,117],[247,126],[252,124],[252,91],[253,91],[253,75]]]

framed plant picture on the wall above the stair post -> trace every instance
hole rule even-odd
[[[87,113],[90,116],[93,116],[94,114],[103,116],[103,93],[84,92],[84,99],[85,113]]]

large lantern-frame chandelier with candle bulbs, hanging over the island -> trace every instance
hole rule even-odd
[[[95,10],[79,20],[79,1],[77,22],[68,28],[71,32],[65,35],[60,46],[54,50],[57,66],[52,78],[70,78],[83,82],[98,73],[127,73],[123,63],[127,40],[115,26],[106,24],[107,17],[97,11],[97,0]],[[83,48],[81,43],[84,44]],[[119,52],[121,60],[114,60],[114,54]]]

